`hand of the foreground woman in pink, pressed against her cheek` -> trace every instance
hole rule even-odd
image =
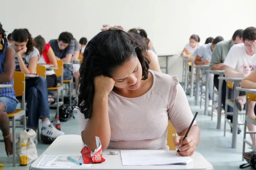
[[[94,82],[94,93],[100,96],[105,96],[114,88],[115,80],[106,76],[96,76]]]

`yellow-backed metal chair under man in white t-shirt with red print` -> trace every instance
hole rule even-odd
[[[233,99],[228,99],[229,89],[234,89],[233,86],[234,86],[233,82],[227,81],[227,86],[226,86],[226,103],[225,103],[225,121],[224,121],[224,136],[226,136],[226,124],[228,123],[231,127],[233,127],[233,124],[231,122],[229,122],[229,120],[227,119],[227,115],[228,114],[233,114],[233,112],[227,112],[227,107],[228,106],[234,108],[234,101],[233,101]],[[238,112],[238,115],[244,115],[244,113],[239,113]],[[244,125],[244,124],[243,123],[238,123],[238,125]]]

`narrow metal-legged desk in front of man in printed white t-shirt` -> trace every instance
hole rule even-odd
[[[239,83],[243,80],[243,78],[219,77],[219,80],[234,82],[234,97],[233,97],[233,100],[235,101],[236,97],[239,96],[239,91],[236,89],[236,87],[239,87]],[[222,89],[220,89],[220,86],[219,86],[219,91],[221,91],[221,90]],[[221,97],[219,97],[219,100],[221,100]],[[220,106],[221,105],[219,105],[219,107]],[[227,111],[225,111],[225,112],[227,112]],[[219,111],[218,111],[218,117],[221,117],[221,116],[219,116]],[[217,123],[220,123],[220,122],[217,122]],[[236,148],[237,126],[238,126],[238,109],[237,109],[236,105],[234,104],[234,107],[233,107],[233,123],[232,123],[232,145],[231,145],[232,148]]]

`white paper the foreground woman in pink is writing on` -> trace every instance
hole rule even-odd
[[[193,161],[170,150],[121,150],[121,158],[123,165],[187,165]]]

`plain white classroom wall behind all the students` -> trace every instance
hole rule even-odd
[[[235,30],[256,26],[256,0],[3,0],[1,6],[0,22],[9,32],[28,28],[48,41],[62,31],[90,39],[105,23],[141,27],[158,55],[179,54],[192,34],[204,43],[208,36],[228,40]]]

